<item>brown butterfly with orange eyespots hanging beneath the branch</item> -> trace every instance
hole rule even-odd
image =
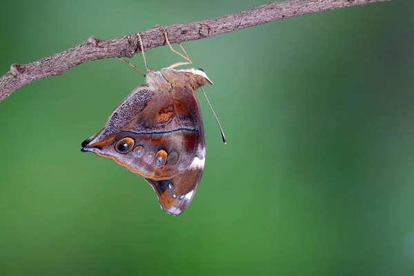
[[[172,52],[184,57],[165,37]],[[135,88],[113,110],[103,129],[83,141],[81,149],[112,159],[144,177],[157,193],[161,208],[171,215],[186,210],[203,174],[206,143],[195,90],[213,84],[201,69],[174,69],[192,63],[179,46],[188,62],[157,72],[146,64],[146,84]]]

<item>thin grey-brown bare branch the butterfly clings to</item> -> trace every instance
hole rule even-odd
[[[261,25],[270,21],[297,17],[303,14],[324,12],[337,8],[362,6],[391,0],[288,0],[268,3],[251,10],[229,14],[216,19],[208,19],[171,26],[155,26],[140,32],[144,49],[164,46],[164,32],[168,33],[170,43],[204,39],[215,35],[233,32]],[[45,57],[26,65],[12,64],[10,72],[0,78],[0,102],[12,92],[39,79],[61,75],[66,70],[87,61],[110,57],[132,57],[141,52],[137,34],[129,34],[116,39],[100,40],[90,37],[87,41],[58,54]]]

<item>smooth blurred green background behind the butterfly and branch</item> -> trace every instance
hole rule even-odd
[[[82,43],[268,1],[1,1],[0,74]],[[80,144],[144,82],[82,64],[0,103],[0,275],[414,275],[413,1],[184,43],[207,161],[186,212]],[[181,61],[166,47],[150,68]],[[131,60],[143,69],[141,55]],[[99,101],[97,101],[99,99]]]

